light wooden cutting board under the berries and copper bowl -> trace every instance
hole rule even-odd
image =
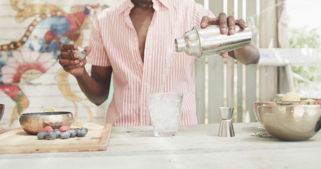
[[[111,127],[111,123],[106,123],[104,129],[89,130],[84,137],[54,140],[39,140],[36,135],[16,128],[0,134],[0,154],[106,150]]]

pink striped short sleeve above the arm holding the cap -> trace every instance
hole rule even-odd
[[[97,66],[111,66],[103,44],[98,18],[93,21],[90,33],[89,46],[91,51],[87,57],[88,63]]]

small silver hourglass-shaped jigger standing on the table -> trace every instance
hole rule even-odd
[[[218,136],[222,137],[232,137],[235,136],[234,128],[232,123],[232,107],[219,107],[219,112],[221,115],[221,123]]]

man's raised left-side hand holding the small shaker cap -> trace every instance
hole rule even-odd
[[[77,48],[78,46],[75,44],[63,44],[60,48],[58,59],[64,70],[73,74],[74,76],[81,76],[85,71],[85,64],[87,60],[86,57],[79,60],[78,53],[74,52],[74,50]],[[90,52],[90,47],[87,46],[85,48],[88,55]]]

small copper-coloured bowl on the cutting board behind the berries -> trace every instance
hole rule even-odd
[[[65,111],[35,112],[21,114],[19,121],[26,132],[37,134],[47,125],[53,128],[59,128],[63,125],[70,126],[73,118],[71,112]]]

